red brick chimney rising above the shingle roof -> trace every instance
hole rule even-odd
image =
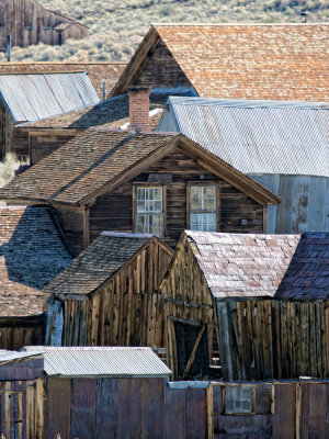
[[[149,131],[149,87],[129,87],[129,128]]]

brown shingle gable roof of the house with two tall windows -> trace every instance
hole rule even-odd
[[[184,135],[89,128],[0,189],[0,199],[92,205],[95,198],[137,177],[174,148],[262,205],[281,199]]]

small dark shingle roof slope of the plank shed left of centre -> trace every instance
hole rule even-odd
[[[152,235],[103,232],[45,288],[45,292],[90,294],[151,238]]]

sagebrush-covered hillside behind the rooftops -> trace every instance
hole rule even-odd
[[[150,23],[329,21],[329,0],[38,0],[90,27],[63,46],[14,47],[12,60],[128,60]],[[2,58],[1,58],[2,56]],[[1,54],[0,60],[4,60]]]

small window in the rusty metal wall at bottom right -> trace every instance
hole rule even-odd
[[[232,385],[225,389],[225,413],[252,413],[253,386]]]

